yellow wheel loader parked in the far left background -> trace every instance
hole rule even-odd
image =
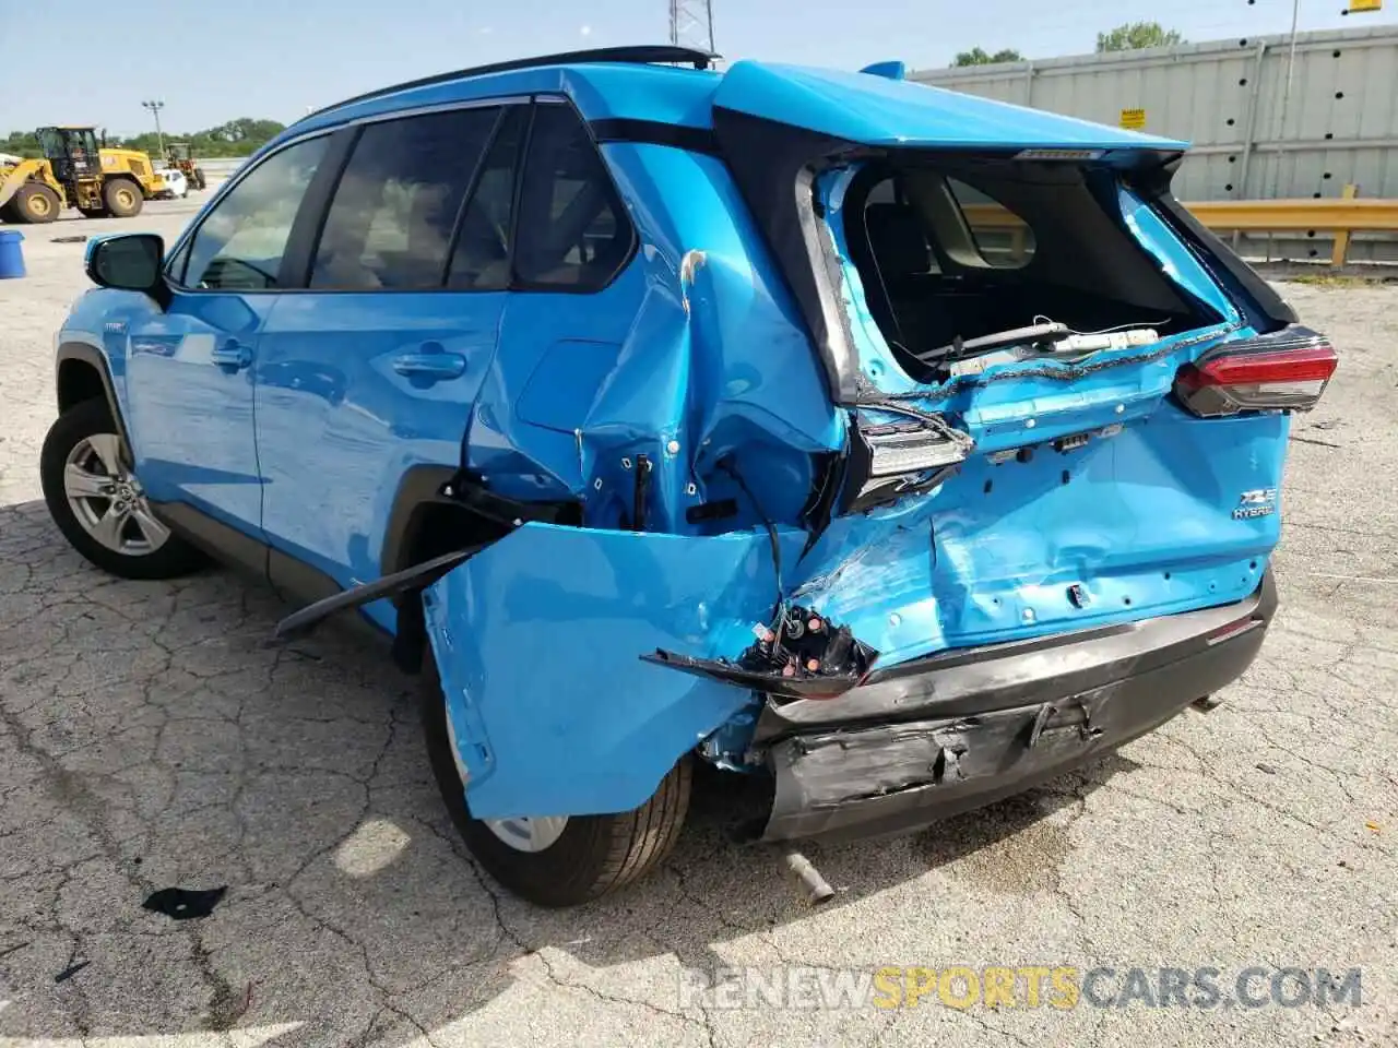
[[[41,127],[43,157],[0,165],[0,218],[52,222],[66,207],[88,218],[130,218],[165,189],[140,150],[98,145],[92,127]]]

